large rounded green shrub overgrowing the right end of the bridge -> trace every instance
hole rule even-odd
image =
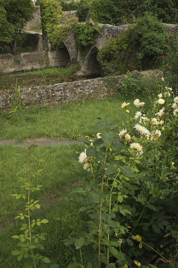
[[[110,39],[98,53],[106,74],[128,70],[149,70],[160,66],[160,55],[169,40],[166,27],[150,13],[138,19],[117,38]]]

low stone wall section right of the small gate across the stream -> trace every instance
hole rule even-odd
[[[21,53],[20,60],[23,71],[48,67],[47,55],[45,51]]]

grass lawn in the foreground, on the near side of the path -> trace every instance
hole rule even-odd
[[[16,173],[20,170],[24,159],[19,159],[14,152],[25,151],[25,148],[0,146],[0,267],[23,267],[23,261],[17,262],[16,256],[11,251],[17,249],[17,241],[11,236],[21,233],[21,224],[27,221],[14,219],[19,213],[24,213],[26,199],[18,199],[11,194],[26,193],[18,183]],[[72,260],[72,250],[66,248],[63,239],[67,238],[68,230],[54,217],[62,217],[67,210],[67,196],[71,189],[80,185],[80,177],[87,174],[78,162],[76,151],[82,152],[84,145],[74,144],[69,146],[38,147],[33,155],[38,159],[43,158],[45,163],[32,163],[32,170],[44,169],[42,176],[32,178],[31,183],[43,185],[41,191],[35,191],[30,196],[39,200],[40,209],[32,211],[32,217],[48,219],[49,223],[39,226],[39,232],[46,232],[47,237],[43,245],[45,250],[41,254],[58,263],[60,267],[67,267]],[[55,238],[55,239],[54,239]],[[44,253],[45,252],[45,253]]]

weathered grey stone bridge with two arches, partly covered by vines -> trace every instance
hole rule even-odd
[[[98,24],[99,26],[104,26],[102,33],[98,35],[96,43],[91,47],[90,51],[82,60],[80,57],[80,52],[76,50],[75,40],[73,38],[72,28],[70,33],[67,36],[67,39],[64,42],[64,47],[57,47],[56,50],[50,51],[51,44],[48,43],[45,33],[43,33],[44,47],[46,44],[49,46],[49,66],[65,66],[68,62],[73,59],[77,60],[81,65],[81,70],[78,71],[78,76],[87,76],[87,75],[100,75],[101,66],[96,60],[96,55],[100,48],[107,43],[107,40],[110,38],[115,38],[119,33],[124,31],[128,25],[113,26],[109,24]],[[71,24],[72,26],[72,24]]]

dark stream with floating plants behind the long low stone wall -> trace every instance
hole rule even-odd
[[[63,82],[72,82],[77,80],[92,79],[99,76],[65,76],[61,74],[55,75],[23,75],[21,72],[14,72],[0,75],[0,90],[12,90],[13,87],[16,87],[16,78],[17,78],[17,87],[34,87],[38,85],[52,85],[56,83]]]

